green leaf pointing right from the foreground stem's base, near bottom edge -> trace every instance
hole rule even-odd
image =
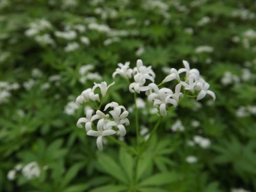
[[[179,180],[179,175],[175,172],[166,172],[153,175],[142,182],[140,182],[140,186],[160,186],[166,185]]]

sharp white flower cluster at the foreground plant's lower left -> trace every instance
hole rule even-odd
[[[130,124],[130,121],[126,118],[129,112],[126,111],[124,106],[111,102],[105,105],[104,112],[109,108],[113,108],[113,110],[109,111],[108,114],[104,114],[100,110],[97,110],[96,114],[94,114],[94,110],[87,110],[86,117],[82,117],[77,121],[79,128],[82,128],[81,123],[85,123],[87,135],[97,137],[96,143],[100,151],[103,149],[103,137],[114,135],[117,133],[117,130],[120,137],[123,137],[126,134],[124,125]],[[93,127],[95,127],[93,122],[95,120],[98,120],[96,125],[97,131],[93,130]]]

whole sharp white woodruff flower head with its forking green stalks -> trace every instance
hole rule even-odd
[[[183,60],[184,68],[176,70],[175,68],[170,69],[170,74],[166,76],[160,84],[155,83],[155,73],[152,67],[143,66],[142,60],[137,60],[136,67],[130,68],[130,62],[118,63],[118,68],[113,73],[113,78],[116,75],[120,75],[127,82],[129,82],[129,90],[134,94],[135,102],[135,124],[136,124],[136,136],[137,136],[137,151],[132,150],[129,146],[123,142],[115,139],[112,135],[119,135],[120,137],[125,136],[125,126],[130,125],[130,121],[127,118],[129,112],[126,111],[125,107],[119,105],[117,102],[111,102],[105,105],[105,108],[100,111],[103,98],[106,95],[108,89],[114,85],[114,82],[106,84],[106,82],[94,83],[93,88],[84,90],[81,95],[76,98],[76,103],[89,104],[93,109],[87,110],[86,117],[78,119],[77,126],[82,128],[82,123],[85,123],[85,129],[87,135],[97,137],[97,147],[100,151],[103,149],[102,138],[110,136],[120,146],[126,148],[132,154],[139,155],[147,147],[148,142],[157,131],[161,118],[158,119],[154,126],[150,136],[142,145],[139,147],[139,121],[138,121],[138,110],[136,105],[137,93],[144,92],[149,102],[153,102],[154,108],[157,108],[160,116],[166,116],[167,112],[181,102],[184,97],[195,97],[197,100],[203,99],[206,94],[209,94],[214,100],[216,99],[215,93],[208,90],[209,84],[200,76],[197,69],[190,69],[189,63]],[[134,82],[131,83],[131,80]],[[171,90],[168,83],[172,81],[176,83],[175,90]],[[166,85],[166,87],[163,87]],[[161,88],[162,87],[162,88]],[[95,93],[96,89],[100,90],[100,95]],[[187,91],[190,94],[187,94]],[[96,123],[97,120],[97,123]],[[141,151],[142,149],[142,151]]]

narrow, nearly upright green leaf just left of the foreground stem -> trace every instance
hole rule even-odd
[[[129,153],[127,153],[123,148],[120,148],[119,159],[127,177],[129,178],[130,181],[132,181],[134,173],[133,157]]]

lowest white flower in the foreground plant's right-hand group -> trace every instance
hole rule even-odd
[[[148,95],[148,101],[152,102],[154,100],[154,107],[159,106],[161,115],[167,115],[166,105],[168,103],[177,106],[177,101],[170,98],[173,96],[172,90],[167,88],[162,88],[159,90],[155,83],[150,83],[149,87],[151,87],[155,91],[155,93],[151,93],[150,95]]]

